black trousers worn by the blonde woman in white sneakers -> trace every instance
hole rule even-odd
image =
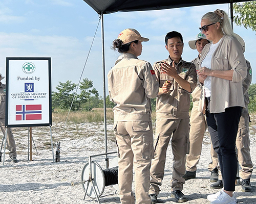
[[[206,120],[212,146],[218,154],[224,189],[234,191],[238,169],[236,137],[242,107],[230,107],[222,113],[210,113],[209,103],[210,98],[206,98]]]

